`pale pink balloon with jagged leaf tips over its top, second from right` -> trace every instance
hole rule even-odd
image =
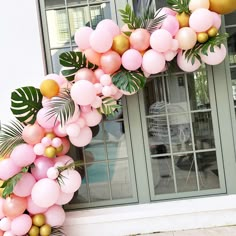
[[[182,54],[182,51],[178,53],[177,64],[181,70],[186,72],[196,71],[201,66],[201,63],[197,59],[195,60],[194,64],[192,64],[191,60],[187,61],[185,54]]]

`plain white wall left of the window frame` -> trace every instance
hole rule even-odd
[[[36,0],[1,1],[0,32],[0,120],[8,123],[11,92],[39,87],[44,76]]]

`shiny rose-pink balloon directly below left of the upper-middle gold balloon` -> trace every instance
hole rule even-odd
[[[120,66],[121,57],[117,52],[110,50],[101,56],[101,68],[106,74],[113,74]]]

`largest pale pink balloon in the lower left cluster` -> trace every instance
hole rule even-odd
[[[31,197],[39,207],[54,205],[60,194],[59,184],[52,179],[41,179],[33,187]]]

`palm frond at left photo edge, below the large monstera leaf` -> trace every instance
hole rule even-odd
[[[22,132],[24,125],[19,121],[11,121],[3,125],[0,131],[0,156],[6,156],[19,144],[24,143]]]

